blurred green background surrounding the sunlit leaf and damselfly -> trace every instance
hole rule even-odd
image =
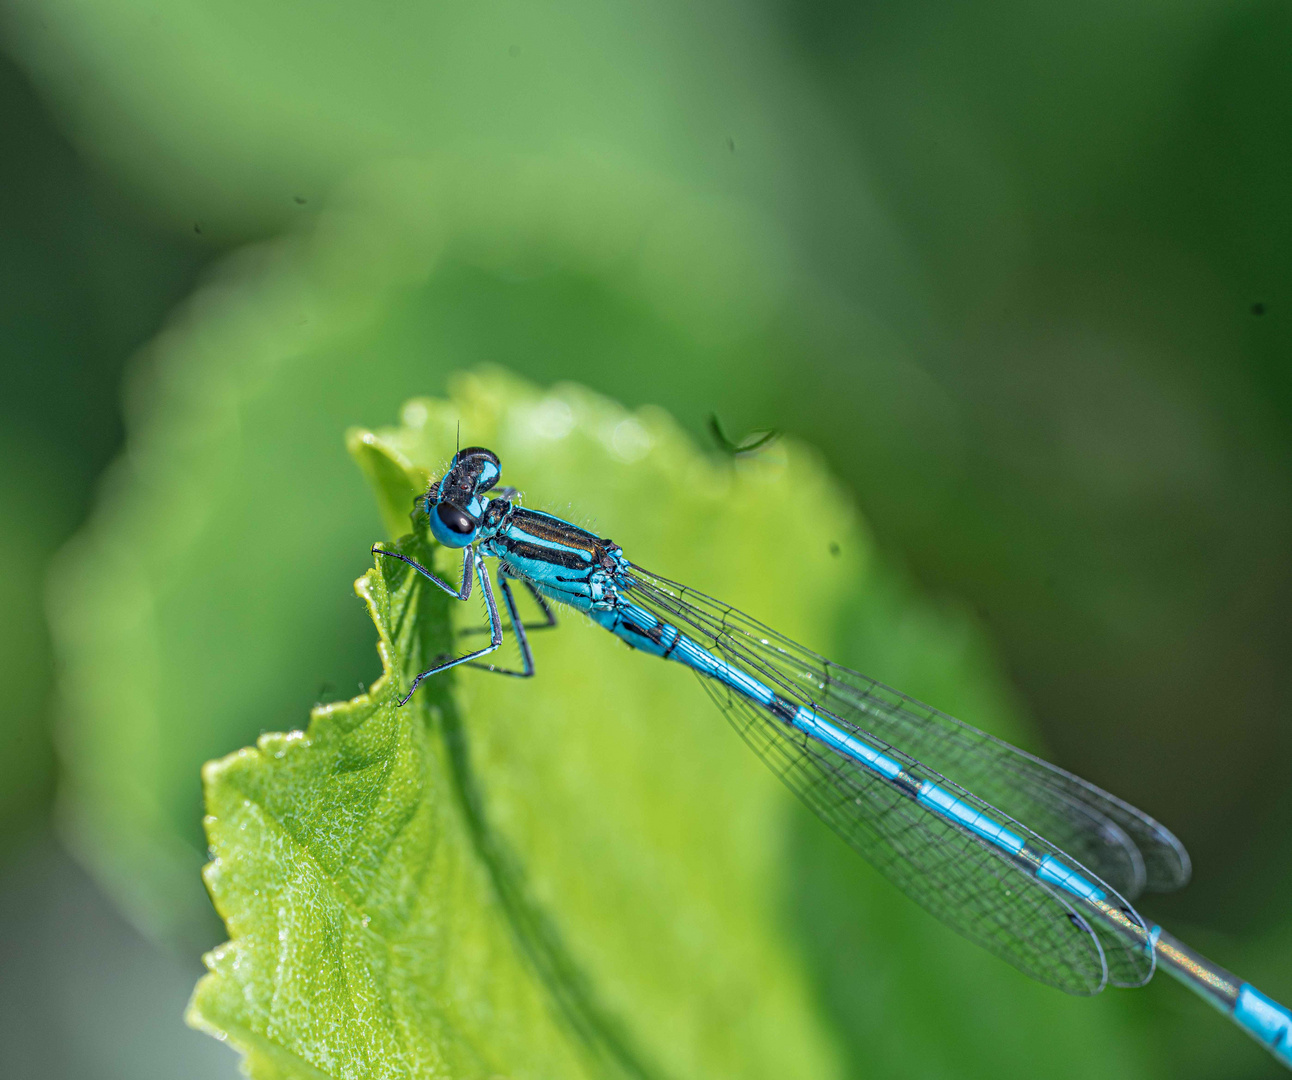
[[[1189,846],[1146,913],[1292,997],[1287,4],[0,14],[0,1074],[233,1074],[178,1021],[218,928],[158,899],[195,774],[112,788],[114,718],[214,756],[370,678],[341,431],[482,360],[819,447]],[[1275,1075],[1120,997],[1146,1075]]]

